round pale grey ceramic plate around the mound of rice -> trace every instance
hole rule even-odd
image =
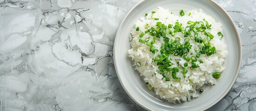
[[[149,91],[143,77],[132,67],[128,49],[131,49],[129,35],[134,23],[146,12],[156,10],[158,6],[179,13],[202,9],[212,16],[216,22],[221,22],[228,55],[224,67],[226,68],[217,80],[216,85],[204,86],[200,97],[182,104],[168,103],[160,99],[155,92]],[[127,13],[118,28],[114,43],[114,63],[122,86],[126,93],[140,106],[151,111],[202,111],[220,101],[231,89],[237,78],[242,57],[242,46],[239,33],[228,13],[213,0],[142,0]]]

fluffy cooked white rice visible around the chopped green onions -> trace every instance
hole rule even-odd
[[[191,97],[199,97],[196,92],[201,86],[207,83],[214,85],[216,83],[216,80],[213,78],[212,74],[215,71],[222,72],[224,70],[222,64],[223,62],[225,62],[225,57],[227,54],[227,51],[225,50],[226,44],[224,43],[224,40],[221,39],[221,37],[217,34],[220,31],[222,32],[221,23],[216,23],[214,18],[203,13],[201,9],[189,11],[191,12],[190,16],[188,16],[189,12],[184,12],[185,15],[181,17],[179,13],[171,14],[171,12],[169,12],[168,10],[159,7],[153,15],[152,13],[148,13],[146,17],[141,17],[135,23],[135,28],[131,31],[132,49],[128,50],[129,56],[132,60],[134,60],[133,66],[135,66],[135,69],[138,70],[141,76],[143,75],[145,77],[145,82],[148,82],[150,85],[152,85],[154,91],[157,95],[160,96],[161,99],[166,99],[172,103],[176,103],[177,101],[180,103],[181,101],[191,100]],[[216,48],[217,53],[212,56],[201,55],[200,59],[203,61],[203,63],[196,62],[196,64],[199,64],[200,67],[196,68],[195,70],[191,70],[190,68],[188,68],[188,72],[185,78],[183,78],[180,72],[177,73],[177,77],[181,78],[180,81],[173,80],[171,76],[170,81],[162,79],[163,76],[159,74],[159,69],[157,68],[156,62],[152,61],[152,59],[158,56],[160,52],[152,54],[147,45],[138,42],[138,39],[140,39],[139,34],[146,31],[145,25],[148,24],[150,27],[155,27],[156,22],[158,22],[151,18],[159,18],[158,21],[162,22],[165,25],[174,25],[175,22],[179,20],[183,27],[187,26],[187,21],[203,21],[203,19],[206,19],[209,24],[212,25],[212,29],[208,32],[214,35],[214,38],[210,41],[210,43],[211,46],[214,46]],[[139,31],[136,31],[136,27],[139,27]],[[199,36],[206,38],[205,35],[199,34]],[[145,34],[142,38],[145,39],[147,37],[150,37],[150,35]],[[184,43],[184,37],[181,33],[176,33],[175,37],[171,37],[170,35],[166,35],[166,37],[170,37],[170,39],[180,37],[180,43]],[[160,50],[162,42],[162,39],[156,41],[154,47]],[[190,49],[190,53],[192,52],[196,54],[194,49],[198,47],[199,43],[196,43],[192,40],[190,40],[189,42],[192,44],[192,49]],[[190,54],[188,54],[188,56],[189,55]],[[176,62],[180,61],[180,64],[182,65],[185,62],[185,60],[180,56],[170,55],[169,57],[172,59],[172,67],[177,67]],[[137,62],[141,63],[141,67],[136,66]],[[191,66],[191,64],[188,63],[188,66]],[[189,82],[188,79],[190,79],[193,83]]]

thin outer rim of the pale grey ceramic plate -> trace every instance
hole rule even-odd
[[[239,32],[238,32],[238,30],[237,30],[237,28],[236,28],[236,25],[235,25],[233,19],[230,17],[230,15],[228,14],[228,12],[227,12],[223,7],[221,7],[217,2],[215,2],[214,0],[208,0],[208,1],[211,2],[211,3],[213,3],[216,7],[218,7],[218,8],[221,10],[221,12],[223,12],[223,14],[225,14],[225,16],[227,17],[228,21],[230,21],[231,26],[232,26],[232,28],[233,28],[233,30],[234,30],[234,33],[235,33],[235,37],[236,37],[236,40],[237,40],[237,44],[238,44],[238,53],[239,53],[238,59],[239,59],[239,61],[238,61],[238,65],[237,65],[237,68],[236,68],[236,71],[235,71],[235,75],[234,75],[234,76],[235,76],[235,79],[233,79],[233,80],[231,81],[231,84],[229,84],[228,90],[225,90],[225,91],[223,92],[223,94],[222,94],[218,99],[216,99],[215,101],[212,102],[212,104],[207,105],[207,106],[205,106],[204,108],[200,109],[200,110],[202,110],[202,111],[205,111],[205,110],[211,108],[212,106],[214,106],[215,104],[217,104],[221,99],[223,99],[223,98],[228,94],[228,92],[231,90],[232,86],[235,84],[235,81],[236,81],[236,79],[237,79],[237,76],[238,76],[238,74],[239,74],[239,70],[240,70],[240,67],[241,67],[241,62],[242,62],[242,43],[241,43],[241,38],[240,38],[240,34],[239,34]],[[116,41],[116,39],[117,39],[118,33],[120,33],[121,27],[125,24],[125,20],[127,19],[127,17],[131,14],[131,12],[133,12],[133,11],[136,9],[137,6],[139,6],[139,5],[142,4],[143,2],[146,2],[146,0],[141,0],[141,1],[139,1],[139,2],[138,2],[135,6],[133,6],[133,7],[131,8],[131,10],[125,15],[124,19],[122,20],[122,22],[120,23],[120,25],[119,25],[119,27],[118,27],[118,31],[117,31],[116,36],[115,36],[115,41]],[[116,62],[117,62],[117,61],[116,61],[117,58],[116,58],[116,56],[115,56],[115,55],[117,55],[115,45],[117,45],[116,42],[114,42],[114,46],[113,46],[113,60],[114,60],[114,64],[116,64]],[[118,74],[118,68],[115,67],[115,70],[116,70],[116,73],[117,73],[117,76],[118,76],[118,79],[119,79],[120,77],[119,77],[119,74]],[[131,94],[128,92],[128,90],[127,90],[127,88],[125,87],[123,81],[122,81],[122,80],[119,80],[119,81],[120,81],[122,87],[125,89],[125,92],[131,97],[131,99],[132,99],[133,101],[136,102],[136,104],[140,105],[141,107],[143,107],[143,108],[146,109],[146,110],[152,111],[152,109],[149,109],[149,108],[146,107],[145,105],[141,104],[137,99],[134,99],[133,96],[131,96]]]

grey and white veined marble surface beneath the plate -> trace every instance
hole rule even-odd
[[[124,91],[113,43],[140,0],[0,0],[0,111],[144,111]],[[214,0],[242,39],[235,85],[210,111],[256,110],[256,1]]]

